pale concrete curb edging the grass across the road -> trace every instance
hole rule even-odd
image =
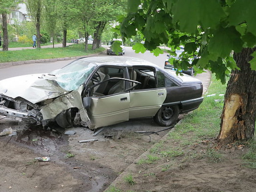
[[[104,52],[104,51],[102,51]],[[24,65],[24,64],[31,64],[31,63],[46,63],[46,62],[54,62],[54,61],[64,61],[64,60],[72,60],[72,59],[79,59],[82,57],[94,57],[102,52],[84,55],[84,56],[77,56],[77,57],[63,57],[63,58],[54,58],[54,59],[37,59],[37,60],[28,60],[28,61],[17,61],[17,62],[9,62],[9,63],[0,63],[0,69],[5,67],[11,67],[15,65]]]

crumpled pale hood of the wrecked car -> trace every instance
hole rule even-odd
[[[37,103],[68,93],[56,82],[56,76],[32,74],[11,77],[0,81],[0,93],[11,98],[22,97]]]

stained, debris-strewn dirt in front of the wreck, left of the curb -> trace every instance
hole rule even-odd
[[[135,133],[163,129],[151,118],[105,127],[96,136],[83,127],[69,129],[76,132],[74,135],[64,135],[65,130],[56,125],[51,126],[53,131],[45,131],[35,125],[19,125],[10,118],[1,118],[0,131],[11,127],[17,132],[14,136],[0,137],[1,192],[103,191],[168,132],[150,136]],[[98,141],[78,142],[86,139]],[[67,155],[74,156],[67,158]],[[35,161],[35,157],[50,157],[51,161]]]

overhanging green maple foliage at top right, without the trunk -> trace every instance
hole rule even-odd
[[[157,46],[166,44],[175,55],[175,49],[183,45],[176,68],[186,69],[188,58],[194,58],[196,73],[210,69],[224,83],[230,69],[238,68],[230,53],[256,43],[255,7],[254,0],[128,0],[121,34],[131,38],[142,33],[145,44],[135,44],[137,52],[148,49],[158,55]],[[250,64],[255,70],[256,58]]]

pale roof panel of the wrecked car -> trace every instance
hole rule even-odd
[[[157,65],[150,63],[146,60],[135,58],[135,57],[124,57],[124,56],[105,56],[105,57],[84,57],[81,58],[83,61],[100,65],[119,65],[124,67],[129,66],[151,66],[159,68]]]

